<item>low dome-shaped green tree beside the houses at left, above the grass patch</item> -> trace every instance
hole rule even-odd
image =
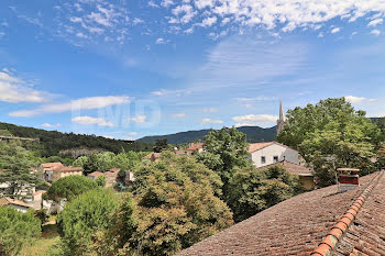
[[[59,201],[67,199],[68,201],[89,190],[98,188],[98,183],[84,176],[67,176],[52,183],[46,193],[46,199]]]

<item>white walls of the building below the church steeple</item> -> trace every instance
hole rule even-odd
[[[265,156],[266,158],[265,164],[261,163],[262,156]],[[278,156],[278,162],[283,162],[285,159],[299,165],[298,152],[278,144],[270,145],[251,154],[251,158],[256,168],[274,164],[274,156]]]

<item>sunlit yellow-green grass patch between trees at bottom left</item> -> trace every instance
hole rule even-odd
[[[20,256],[48,256],[54,244],[59,241],[56,224],[43,226],[42,236],[31,246],[24,247]]]

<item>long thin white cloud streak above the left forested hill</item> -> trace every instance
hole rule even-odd
[[[130,98],[127,96],[105,96],[89,97],[72,100],[65,103],[46,104],[34,110],[19,110],[11,112],[10,116],[35,116],[48,113],[63,113],[68,111],[102,109],[109,105],[129,103]]]

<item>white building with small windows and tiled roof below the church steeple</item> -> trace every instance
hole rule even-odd
[[[249,153],[256,168],[284,160],[296,165],[300,163],[297,151],[277,142],[252,143]]]

